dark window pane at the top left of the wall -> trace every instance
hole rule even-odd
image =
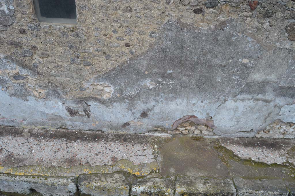
[[[75,0],[38,0],[38,2],[42,17],[76,19]]]

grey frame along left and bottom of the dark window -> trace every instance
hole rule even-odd
[[[39,1],[38,0],[33,0],[33,3],[34,3],[35,14],[37,15],[37,18],[38,18],[39,22],[77,24],[77,19],[42,17],[41,13],[40,13]],[[76,11],[77,11],[77,8],[76,8]]]

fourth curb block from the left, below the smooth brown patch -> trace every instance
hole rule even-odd
[[[182,195],[224,195],[235,196],[236,190],[230,179],[194,179],[191,177],[178,177],[176,179],[176,196]]]

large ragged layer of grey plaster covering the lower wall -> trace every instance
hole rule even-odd
[[[145,133],[155,127],[170,129],[182,116],[195,115],[212,116],[216,134],[253,137],[276,120],[281,108],[294,99],[294,86],[289,85],[293,76],[288,75],[292,73],[294,62],[290,58],[294,52],[266,50],[251,37],[237,33],[234,19],[220,25],[224,28],[200,29],[169,20],[157,31],[153,47],[107,73],[84,80],[67,71],[68,78],[81,80],[81,86],[72,94],[60,88],[50,89],[47,84],[44,88],[32,85],[29,90],[25,83],[13,85],[11,91],[0,91],[0,113],[4,116],[0,123]],[[30,33],[40,31],[38,23],[28,23],[27,27]],[[47,42],[50,44],[52,39],[43,44]],[[72,59],[81,65],[80,58]],[[271,67],[278,70],[277,79],[258,80],[255,73],[270,76],[265,67],[269,59],[274,62]],[[36,76],[24,69],[20,72]],[[286,81],[283,86],[278,84],[280,78]],[[70,81],[62,75],[55,79],[61,83]],[[107,85],[101,86],[103,83]],[[265,83],[267,88],[262,85]],[[86,113],[78,104],[80,100],[89,105]],[[81,115],[71,116],[65,107]],[[141,117],[143,111],[148,111],[145,118]]]

